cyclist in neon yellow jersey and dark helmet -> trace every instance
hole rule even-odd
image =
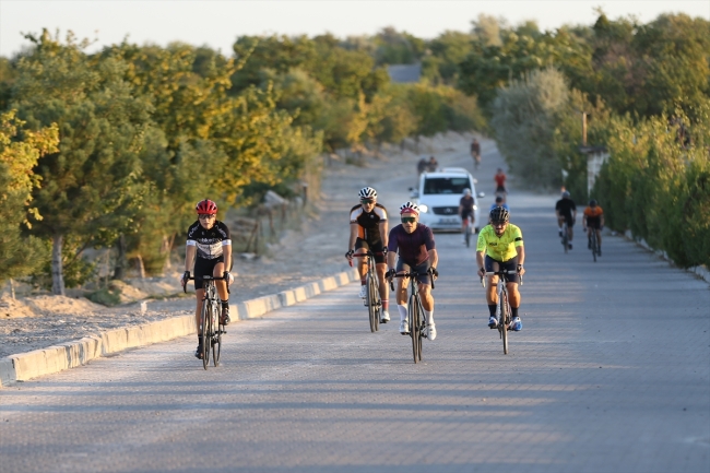
[[[518,315],[520,309],[520,292],[518,291],[518,275],[523,275],[525,270],[525,247],[522,243],[522,232],[511,223],[510,212],[504,208],[496,208],[489,214],[490,224],[483,227],[478,233],[478,244],[476,245],[476,262],[478,263],[478,276],[484,277],[486,272],[506,270],[516,271],[514,274],[508,275],[508,297],[510,301],[511,321],[510,329],[514,331],[522,330],[522,321]],[[484,255],[485,252],[485,255]],[[495,329],[498,327],[496,317],[496,307],[498,305],[498,293],[496,285],[498,276],[487,276],[486,303],[490,317],[488,327]]]

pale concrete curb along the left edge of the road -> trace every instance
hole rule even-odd
[[[353,269],[279,294],[245,300],[233,307],[232,311],[236,312],[239,320],[253,319],[358,280],[357,270]],[[0,388],[86,365],[94,358],[127,348],[190,335],[196,331],[194,316],[180,316],[142,326],[109,330],[75,342],[10,355],[0,358]]]

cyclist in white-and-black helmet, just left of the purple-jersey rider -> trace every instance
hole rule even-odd
[[[389,288],[384,281],[384,255],[387,253],[387,209],[377,203],[377,191],[371,187],[360,189],[360,203],[350,211],[350,241],[345,258],[353,259],[357,250],[369,250],[375,253],[375,269],[379,279],[380,298],[382,299],[382,317],[380,322],[390,321]],[[360,275],[360,297],[367,296],[367,265],[365,258],[358,258],[357,271]]]

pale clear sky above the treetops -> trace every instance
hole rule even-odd
[[[72,31],[95,39],[88,51],[120,43],[165,46],[179,40],[210,46],[225,55],[240,35],[306,34],[330,32],[336,37],[374,35],[386,26],[422,38],[447,29],[469,31],[484,13],[511,24],[535,20],[542,29],[564,24],[591,25],[595,8],[607,16],[635,15],[649,22],[660,13],[686,13],[710,21],[710,0],[0,0],[0,56],[11,57],[28,45],[25,33]]]

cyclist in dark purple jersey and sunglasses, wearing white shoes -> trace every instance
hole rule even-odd
[[[387,252],[387,263],[390,270],[387,279],[391,281],[395,274],[403,272],[428,273],[418,277],[418,291],[422,298],[422,307],[426,316],[426,336],[429,340],[436,339],[436,326],[434,324],[434,297],[429,285],[429,276],[438,277],[436,269],[439,257],[434,246],[434,234],[431,228],[419,223],[419,206],[412,202],[405,202],[400,206],[402,223],[390,230],[390,238]],[[399,259],[395,264],[395,257]],[[394,269],[397,268],[397,270]],[[406,321],[406,286],[409,279],[399,279],[397,282],[397,308],[400,311],[400,333],[410,333],[410,326]]]

